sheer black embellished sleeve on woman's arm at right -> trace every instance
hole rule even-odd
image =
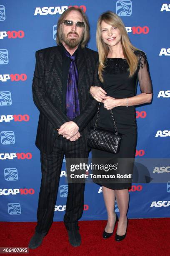
[[[140,85],[140,91],[141,93],[153,93],[153,86],[150,78],[147,57],[143,51],[138,51],[137,55],[139,58],[138,80]]]

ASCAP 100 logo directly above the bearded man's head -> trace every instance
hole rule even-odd
[[[80,8],[83,10],[83,12],[86,12],[86,7],[85,5],[73,5],[75,8]],[[36,7],[35,8],[35,13],[34,15],[56,15],[56,14],[62,14],[65,10],[67,10],[68,8],[72,7],[72,5],[70,6],[51,6],[51,7]]]

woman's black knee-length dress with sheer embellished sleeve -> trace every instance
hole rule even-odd
[[[139,81],[141,93],[153,93],[152,82],[150,79],[149,65],[146,55],[143,51],[135,51],[138,56],[138,69],[129,78],[128,63],[126,59],[121,58],[107,58],[105,63],[105,71],[103,72],[104,82],[101,83],[97,69],[95,72],[94,86],[101,86],[106,92],[107,96],[114,98],[128,98],[136,95],[137,84]],[[116,171],[102,172],[102,174],[133,174],[133,162],[128,163],[128,159],[135,158],[136,143],[137,143],[137,123],[135,106],[127,107],[116,107],[112,109],[117,130],[122,133],[122,141],[120,145],[120,151],[118,154],[112,154],[106,151],[100,151],[92,149],[92,163],[99,163],[99,159],[102,159],[102,164],[117,164]],[[100,115],[97,126],[104,128],[105,130],[114,131],[113,120],[111,118],[110,110],[100,107]],[[141,138],[142,139],[142,138]],[[107,161],[110,159],[111,161]],[[117,159],[124,159],[119,164]],[[100,170],[94,172],[95,174],[101,174]],[[99,182],[95,179],[94,182],[102,184],[105,187],[111,189],[125,189],[131,186],[132,178],[120,179],[109,179],[110,183],[103,183],[102,180]],[[132,175],[131,175],[132,177]],[[128,181],[128,183],[126,182]]]

